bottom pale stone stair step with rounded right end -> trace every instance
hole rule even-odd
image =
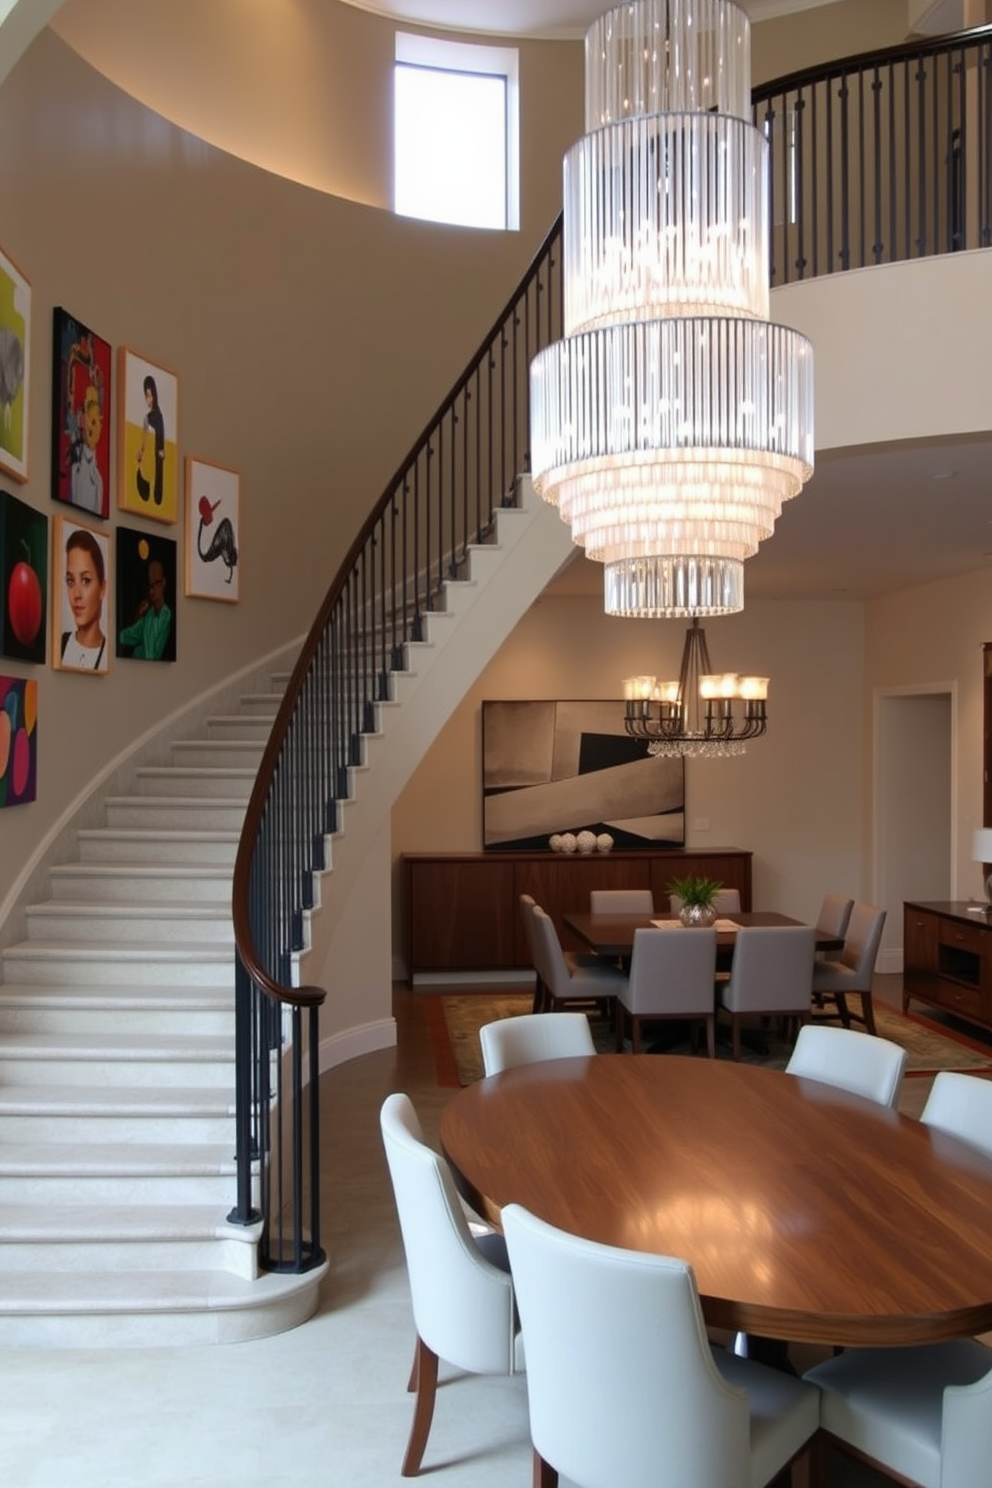
[[[327,1263],[245,1281],[228,1271],[0,1274],[0,1348],[244,1342],[312,1317]]]

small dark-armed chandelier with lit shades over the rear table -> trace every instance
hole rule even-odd
[[[678,680],[626,677],[623,725],[650,740],[648,754],[720,759],[744,754],[767,726],[767,677],[714,673],[706,632],[695,618],[686,631]]]

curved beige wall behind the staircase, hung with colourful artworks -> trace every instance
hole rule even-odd
[[[543,86],[537,107],[549,118],[561,86],[561,121],[532,153],[556,183],[571,104],[556,70]],[[180,598],[175,665],[112,661],[95,679],[0,661],[37,677],[40,692],[39,801],[0,812],[0,906],[109,760],[306,629],[375,498],[524,272],[558,186],[547,198],[529,240],[394,219],[202,144],[51,31],[10,71],[0,243],[33,286],[31,429],[30,481],[0,487],[57,515],[51,317],[62,305],[115,348],[173,368],[180,451],[242,472],[244,598]],[[113,510],[109,528],[116,522]]]

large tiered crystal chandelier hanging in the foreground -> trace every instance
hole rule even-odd
[[[608,615],[724,615],[812,475],[812,350],[769,323],[767,141],[729,0],[635,0],[586,34],[564,164],[564,339],[531,365],[534,485]]]

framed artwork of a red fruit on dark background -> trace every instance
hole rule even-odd
[[[48,643],[48,516],[0,491],[0,655],[43,662]]]

